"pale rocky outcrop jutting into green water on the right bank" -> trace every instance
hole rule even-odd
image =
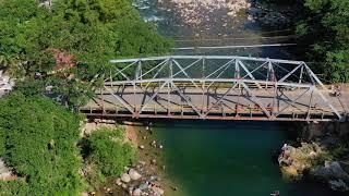
[[[349,192],[347,135],[327,133],[299,145],[285,144],[280,151],[278,162],[286,177],[318,181],[334,191]]]

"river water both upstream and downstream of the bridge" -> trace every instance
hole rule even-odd
[[[176,10],[173,4],[163,1],[158,3],[157,0],[136,0],[134,5],[139,8],[144,20],[155,23],[163,35],[174,39],[217,35],[220,37],[270,35],[256,22],[249,20],[244,12],[227,19],[224,9],[207,14],[208,20],[205,22],[192,25],[185,22],[188,19],[183,19],[181,11]],[[201,12],[203,11],[198,13]],[[260,40],[262,39],[257,41]],[[290,48],[286,47],[264,47],[185,50],[176,53],[294,59],[289,50]],[[281,196],[336,195],[320,184],[305,181],[291,182],[282,177],[276,161],[277,150],[284,143],[296,138],[294,134],[288,133],[278,123],[160,121],[155,123],[155,133],[157,139],[165,146],[166,179],[178,186],[178,191],[172,191],[168,195],[267,196],[274,191],[279,191]]]

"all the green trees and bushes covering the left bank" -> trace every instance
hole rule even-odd
[[[80,195],[120,174],[135,160],[122,130],[82,139],[74,109],[94,96],[110,59],[171,46],[130,0],[43,2],[0,0],[0,66],[16,83],[0,99],[0,157],[16,180],[1,181],[0,195]],[[84,175],[87,164],[97,175]]]

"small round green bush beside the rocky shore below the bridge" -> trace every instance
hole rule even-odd
[[[99,128],[91,134],[87,142],[91,149],[87,160],[91,166],[96,166],[93,167],[94,177],[100,174],[100,177],[120,175],[124,172],[124,167],[136,159],[135,148],[124,140],[123,130],[120,127]]]

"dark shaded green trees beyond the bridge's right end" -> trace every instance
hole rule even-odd
[[[349,1],[305,0],[308,14],[298,25],[301,42],[310,46],[313,69],[330,82],[349,82]]]

